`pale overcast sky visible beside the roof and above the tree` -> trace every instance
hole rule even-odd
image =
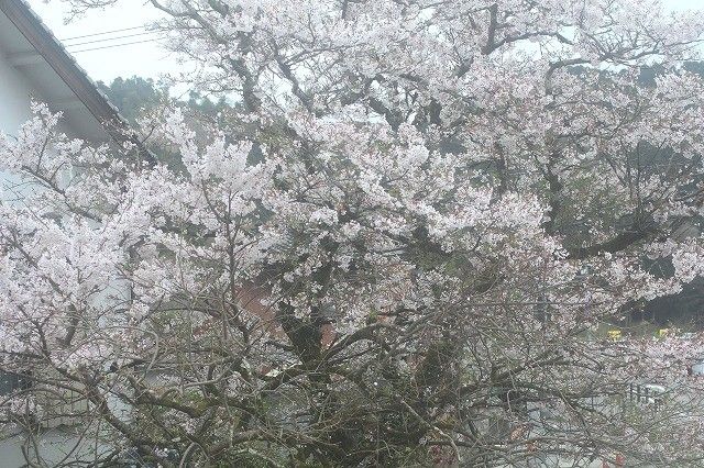
[[[663,2],[672,10],[704,10],[704,0]],[[153,8],[143,5],[143,0],[124,0],[120,8],[92,11],[69,24],[65,24],[62,2],[30,0],[30,4],[95,80],[109,82],[133,75],[158,78],[161,74],[179,71],[174,57],[160,47],[158,35],[143,29],[157,18]],[[111,31],[116,32],[101,34]]]

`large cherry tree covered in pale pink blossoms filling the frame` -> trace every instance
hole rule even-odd
[[[702,272],[704,83],[682,64],[703,20],[151,4],[184,79],[238,111],[145,120],[146,159],[42,104],[1,141],[0,367],[23,382],[3,408],[29,460],[58,420],[86,466],[701,466],[704,337],[594,330]]]

